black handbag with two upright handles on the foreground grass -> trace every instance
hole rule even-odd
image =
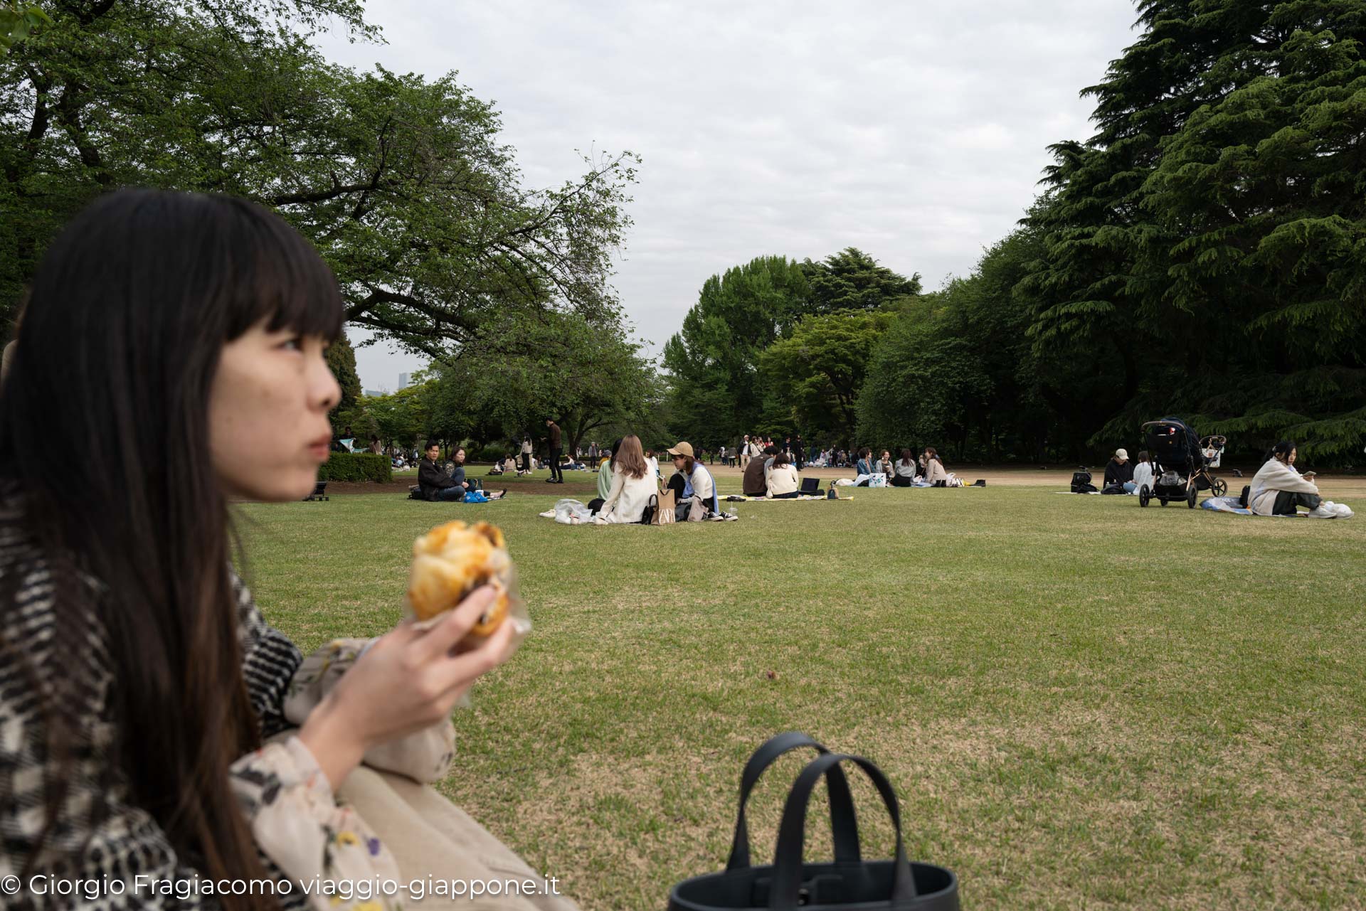
[[[744,803],[759,773],[777,757],[800,746],[816,747],[813,759],[787,795],[773,866],[750,866]],[[877,787],[896,826],[892,860],[859,858],[858,822],[843,762],[858,765]],[[817,780],[825,779],[835,830],[835,860],[805,863],[806,807]],[[669,911],[959,911],[958,877],[951,870],[906,859],[896,792],[882,772],[862,757],[829,753],[805,733],[780,733],[750,757],[740,776],[740,810],[725,871],[684,880],[669,893]]]

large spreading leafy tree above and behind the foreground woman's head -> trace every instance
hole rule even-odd
[[[522,186],[497,112],[434,81],[328,64],[358,0],[41,4],[51,25],[0,57],[0,316],[96,194],[223,191],[281,212],[335,269],[347,320],[433,358],[508,313],[616,311],[611,254],[635,157]]]

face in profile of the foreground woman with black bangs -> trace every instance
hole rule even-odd
[[[209,451],[224,492],[301,500],[328,460],[328,410],[342,397],[326,341],[264,324],[223,347],[209,392]]]

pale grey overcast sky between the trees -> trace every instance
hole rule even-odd
[[[652,352],[708,276],[757,255],[855,246],[926,290],[967,275],[1030,205],[1045,148],[1091,135],[1078,93],[1137,38],[1131,0],[366,5],[388,44],[324,53],[459,71],[527,186],[581,175],[575,149],[643,157],[613,284]],[[367,389],[421,365],[357,351]]]

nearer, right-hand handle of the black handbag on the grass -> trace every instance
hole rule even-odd
[[[882,795],[882,803],[896,826],[896,858],[892,877],[893,903],[910,903],[915,900],[915,878],[911,875],[911,863],[906,859],[906,844],[902,840],[902,811],[896,804],[896,792],[892,784],[882,774],[882,770],[863,757],[843,753],[825,753],[811,759],[802,773],[792,783],[792,791],[787,795],[787,804],[783,807],[783,822],[777,830],[777,851],[773,854],[773,886],[769,891],[769,908],[772,911],[795,911],[799,892],[802,889],[802,843],[806,837],[806,804],[811,799],[811,788],[816,780],[828,774],[831,769],[837,769],[841,762],[852,762],[863,769],[865,774],[877,785],[877,792]]]

